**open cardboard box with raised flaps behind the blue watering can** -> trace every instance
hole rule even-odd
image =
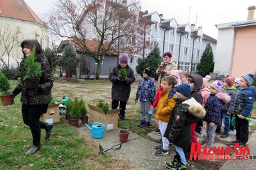
[[[101,108],[87,104],[89,107],[89,124],[99,122],[105,125],[105,131],[117,129],[118,126],[118,113],[120,109],[109,110],[107,114]]]

